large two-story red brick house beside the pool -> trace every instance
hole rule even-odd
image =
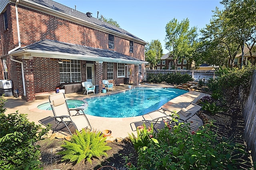
[[[60,84],[137,85],[147,63],[140,38],[52,0],[0,0],[0,41],[0,80],[27,101]]]

